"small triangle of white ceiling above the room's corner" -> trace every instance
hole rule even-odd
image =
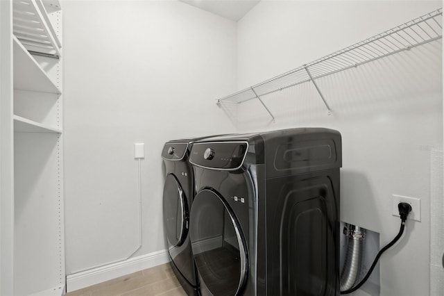
[[[239,21],[260,0],[179,0],[215,15]]]

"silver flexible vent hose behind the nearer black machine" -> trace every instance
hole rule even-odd
[[[341,291],[352,288],[359,280],[366,236],[365,229],[352,224],[348,224],[348,231],[344,232],[348,237],[348,249],[341,272]]]

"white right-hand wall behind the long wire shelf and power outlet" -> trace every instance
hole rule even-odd
[[[442,6],[441,1],[261,1],[238,24],[238,89],[348,47]],[[400,219],[391,195],[421,199],[421,222],[380,261],[381,295],[429,295],[430,150],[443,145],[441,40],[227,108],[239,131],[325,126],[341,131],[341,220],[380,233]]]

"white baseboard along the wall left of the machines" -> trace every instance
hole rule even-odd
[[[156,265],[164,264],[170,261],[168,251],[161,250],[135,258],[129,258],[125,261],[104,265],[99,268],[69,274],[67,276],[67,292],[86,288],[88,286],[109,281],[123,275],[152,268]]]

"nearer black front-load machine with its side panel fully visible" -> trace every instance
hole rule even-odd
[[[339,132],[206,138],[189,161],[202,295],[339,295]]]

